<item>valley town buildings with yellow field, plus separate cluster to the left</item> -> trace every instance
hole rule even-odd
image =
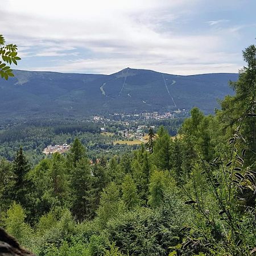
[[[140,114],[123,114],[113,113],[108,115],[93,115],[88,122],[98,123],[100,125],[99,133],[102,136],[109,137],[113,145],[127,144],[138,145],[148,142],[148,130],[152,129],[156,132],[157,124],[164,119],[174,119],[186,117],[188,112],[183,110],[175,110],[173,112],[152,112]],[[64,154],[71,148],[71,145],[56,144],[49,145],[44,148],[43,153],[46,155],[59,152]]]

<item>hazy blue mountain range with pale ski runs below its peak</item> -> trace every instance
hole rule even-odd
[[[112,75],[14,71],[0,79],[0,117],[82,117],[199,107],[213,113],[236,73],[178,76],[126,68]]]

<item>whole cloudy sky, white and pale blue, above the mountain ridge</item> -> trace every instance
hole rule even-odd
[[[255,10],[255,0],[6,0],[0,34],[18,45],[18,69],[237,72]]]

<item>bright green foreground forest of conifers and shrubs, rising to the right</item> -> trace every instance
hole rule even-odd
[[[34,167],[22,147],[2,158],[0,225],[40,256],[254,255],[256,47],[243,58],[236,94],[174,141],[161,126],[93,165],[78,138]]]

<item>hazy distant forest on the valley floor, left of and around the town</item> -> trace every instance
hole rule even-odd
[[[172,136],[177,134],[184,118],[172,118],[163,120],[136,121],[138,125],[159,127],[163,125]],[[134,121],[135,122],[135,121]],[[1,123],[1,122],[0,122]],[[112,137],[102,136],[100,127],[104,126],[105,131],[113,133]],[[131,125],[130,125],[131,126]],[[34,166],[46,155],[44,148],[49,145],[71,144],[75,138],[79,138],[86,147],[86,154],[89,159],[98,159],[104,152],[105,158],[109,160],[114,155],[123,155],[127,151],[137,149],[137,145],[113,144],[114,141],[122,139],[118,132],[131,127],[121,122],[111,123],[81,121],[77,119],[31,119],[30,121],[10,121],[2,124],[0,128],[0,156],[7,160],[14,160],[16,151],[22,146],[26,158]],[[147,133],[148,128],[144,133]]]

